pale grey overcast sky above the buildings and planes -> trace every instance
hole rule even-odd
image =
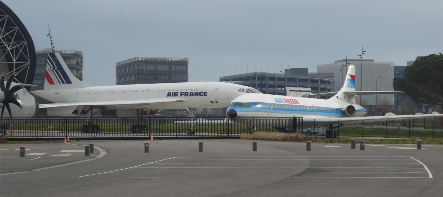
[[[358,58],[406,66],[443,51],[442,0],[4,0],[36,49],[81,50],[84,81],[115,85],[115,63],[189,57],[189,81]],[[278,71],[277,71],[278,72]]]

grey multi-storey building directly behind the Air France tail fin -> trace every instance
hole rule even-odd
[[[55,50],[55,52],[60,53],[63,60],[66,62],[71,73],[77,77],[79,80],[83,81],[83,53],[79,50]],[[38,85],[37,87],[32,87],[31,90],[43,89],[45,85],[45,71],[46,62],[48,58],[48,53],[52,53],[51,48],[44,48],[43,50],[36,50],[36,67],[33,85]],[[34,95],[35,96],[35,95]],[[48,100],[35,96],[40,104],[51,103]]]

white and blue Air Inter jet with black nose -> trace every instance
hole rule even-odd
[[[366,109],[355,104],[357,95],[392,93],[403,92],[355,91],[355,67],[350,65],[346,74],[346,81],[340,91],[308,95],[308,97],[333,96],[328,100],[270,94],[245,94],[231,102],[229,108],[226,109],[226,114],[229,118],[302,117],[304,126],[325,125],[328,127],[329,130],[326,131],[327,138],[332,135],[336,136],[335,132],[332,133],[332,131],[334,131],[334,128],[342,126],[342,124],[443,117],[443,114],[438,112],[401,116],[389,112],[385,116],[365,116]],[[276,124],[273,126],[279,129],[290,127],[289,124],[291,124],[289,121],[274,121],[273,123]]]

